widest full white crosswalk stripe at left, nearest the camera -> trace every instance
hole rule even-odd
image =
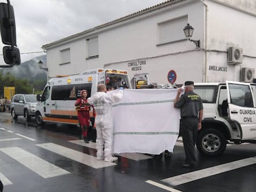
[[[37,173],[43,178],[56,177],[69,173],[66,170],[61,169],[56,165],[53,165],[41,159],[40,157],[37,157],[30,152],[27,152],[18,147],[0,148],[0,151],[20,162],[20,164],[24,165],[25,167]]]

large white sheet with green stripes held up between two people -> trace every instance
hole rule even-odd
[[[114,153],[173,152],[180,111],[173,107],[177,89],[124,90],[113,106]]]

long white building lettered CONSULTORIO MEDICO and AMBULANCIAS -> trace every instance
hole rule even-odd
[[[200,48],[185,37],[187,23]],[[169,0],[42,48],[49,78],[108,68],[128,70],[130,78],[148,73],[163,84],[240,81],[242,72],[241,81],[252,81],[255,23],[255,0]]]

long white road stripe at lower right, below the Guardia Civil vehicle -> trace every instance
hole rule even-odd
[[[176,186],[176,185],[192,182],[194,180],[198,180],[201,178],[210,177],[212,175],[228,172],[230,170],[239,169],[241,167],[245,167],[252,164],[256,164],[256,157],[249,157],[247,159],[233,161],[226,164],[217,165],[215,167],[209,167],[207,169],[197,170],[194,172],[189,172],[189,173],[177,175],[170,178],[165,178],[161,180],[161,182]]]

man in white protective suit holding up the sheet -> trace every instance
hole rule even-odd
[[[123,89],[121,87],[117,93],[109,93],[104,84],[99,84],[98,92],[88,98],[88,103],[92,104],[96,111],[96,158],[98,160],[113,162],[118,159],[113,156],[112,104],[121,101]]]

